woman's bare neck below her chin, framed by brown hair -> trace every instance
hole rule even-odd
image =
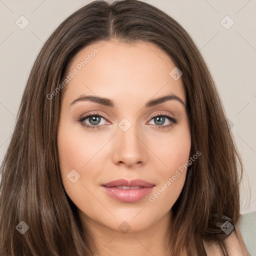
[[[170,225],[170,214],[171,211],[167,212],[142,230],[122,232],[119,229],[110,229],[79,212],[97,250],[92,254],[95,256],[171,255],[166,235]]]

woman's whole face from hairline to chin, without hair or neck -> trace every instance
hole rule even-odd
[[[154,44],[102,43],[76,54],[62,89],[62,182],[82,218],[142,230],[168,216],[185,181],[185,92],[174,63]]]

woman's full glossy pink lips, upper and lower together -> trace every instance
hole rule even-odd
[[[116,179],[102,184],[104,191],[121,202],[136,202],[149,194],[155,185],[143,179]]]

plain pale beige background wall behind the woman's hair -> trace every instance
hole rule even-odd
[[[244,163],[241,213],[255,211],[256,0],[143,1],[176,19],[200,49]],[[26,79],[43,42],[62,20],[89,2],[0,0],[0,162],[10,141]],[[29,21],[24,29],[15,23],[21,15]],[[231,19],[224,18],[227,15]],[[232,20],[234,24],[226,29],[224,26]]]

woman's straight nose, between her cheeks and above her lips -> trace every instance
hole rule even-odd
[[[148,148],[141,133],[135,125],[123,131],[118,127],[113,145],[113,162],[126,167],[137,167],[145,164]]]

